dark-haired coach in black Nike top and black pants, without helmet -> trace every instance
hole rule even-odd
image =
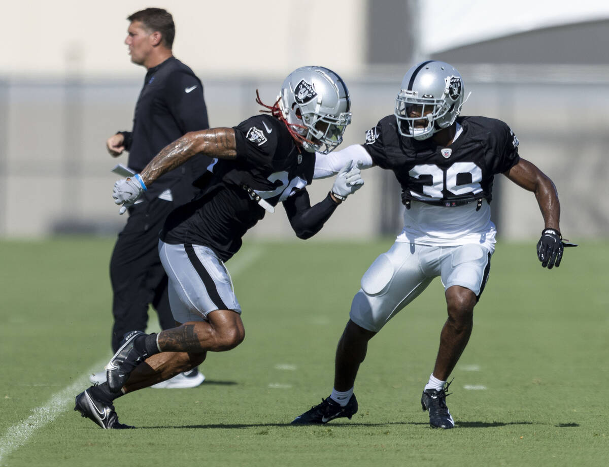
[[[141,172],[163,147],[195,130],[209,128],[203,85],[192,70],[172,54],[174,20],[160,8],[147,8],[128,16],[125,44],[131,61],[146,67],[133,129],[118,132],[106,142],[113,157],[129,152],[128,167]],[[128,209],[129,218],[119,233],[110,259],[113,290],[112,351],[128,331],[146,330],[148,306],[157,311],[161,328],[175,326],[167,298],[167,275],[158,257],[158,233],[167,214],[191,200],[197,191],[192,181],[203,174],[211,160],[200,156],[155,181]],[[91,377],[105,381],[105,371]],[[195,387],[205,376],[197,368],[180,373],[155,387]]]

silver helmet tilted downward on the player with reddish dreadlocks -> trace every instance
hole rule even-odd
[[[284,80],[278,97],[281,114],[308,152],[327,154],[342,142],[351,123],[345,82],[323,66],[303,66]]]

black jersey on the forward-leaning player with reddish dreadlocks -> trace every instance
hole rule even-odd
[[[169,214],[161,232],[164,242],[205,245],[227,261],[266,212],[248,189],[276,206],[311,183],[315,155],[299,152],[283,122],[258,115],[234,131],[236,159],[219,160],[200,195]]]

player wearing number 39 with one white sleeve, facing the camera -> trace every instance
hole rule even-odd
[[[393,170],[406,209],[403,230],[365,272],[353,298],[336,350],[331,395],[292,424],[351,418],[357,412],[353,386],[368,341],[440,276],[448,319],[421,406],[429,410],[432,427],[454,427],[446,407],[447,381],[470,339],[474,306],[495,250],[490,202],[496,174],[535,194],[544,222],[538,258],[547,269],[560,265],[563,242],[554,183],[518,155],[518,139],[507,124],[459,116],[464,96],[462,77],[451,65],[418,63],[404,76],[394,114],[369,130],[364,144],[317,158],[315,178],[336,173],[348,160]]]

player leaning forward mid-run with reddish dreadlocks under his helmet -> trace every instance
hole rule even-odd
[[[242,342],[241,306],[224,262],[267,211],[283,203],[296,235],[307,239],[364,183],[359,167],[347,161],[325,199],[311,206],[306,191],[315,152],[327,154],[339,146],[351,122],[350,96],[339,75],[321,66],[298,68],[274,105],[262,104],[259,96],[256,102],[267,114],[233,128],[186,133],[140,174],[114,184],[113,198],[123,212],[169,170],[199,154],[217,159],[211,180],[194,200],[169,214],[160,234],[177,327],[125,334],[106,366],[107,381],[76,396],[74,410],[102,428],[130,427],[119,423],[114,399],[200,365],[208,351],[227,351]]]

